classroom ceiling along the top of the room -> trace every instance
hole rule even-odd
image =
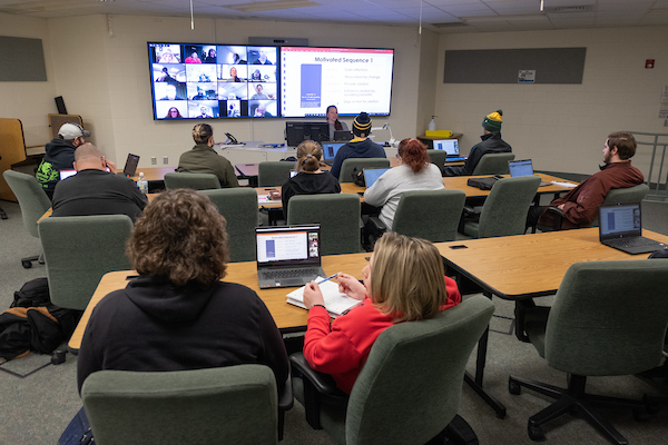
[[[0,0],[0,12],[38,18],[169,16],[372,23],[439,33],[668,24],[668,0]]]

